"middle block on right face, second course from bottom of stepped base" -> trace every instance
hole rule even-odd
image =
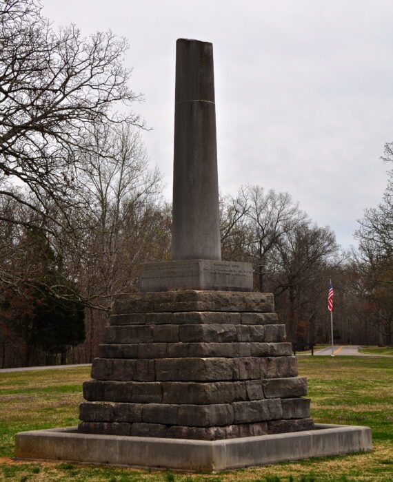
[[[283,410],[279,399],[236,401],[232,404],[234,423],[250,423],[281,419]]]

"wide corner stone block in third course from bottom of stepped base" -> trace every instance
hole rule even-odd
[[[165,404],[225,404],[246,399],[242,381],[165,381],[162,389]]]

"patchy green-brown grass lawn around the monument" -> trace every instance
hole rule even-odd
[[[14,461],[16,432],[77,423],[81,384],[90,377],[89,370],[81,367],[1,373],[1,481],[393,481],[393,358],[299,357],[299,373],[309,381],[312,417],[323,423],[370,426],[372,452],[219,474]]]

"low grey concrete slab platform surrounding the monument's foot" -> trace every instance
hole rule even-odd
[[[316,430],[219,441],[92,435],[77,427],[19,432],[17,459],[219,472],[281,461],[367,452],[368,427],[316,424]]]

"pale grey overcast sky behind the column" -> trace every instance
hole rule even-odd
[[[343,248],[377,205],[393,140],[392,0],[43,0],[54,25],[125,36],[143,135],[172,198],[178,38],[214,48],[221,193],[288,191]]]

